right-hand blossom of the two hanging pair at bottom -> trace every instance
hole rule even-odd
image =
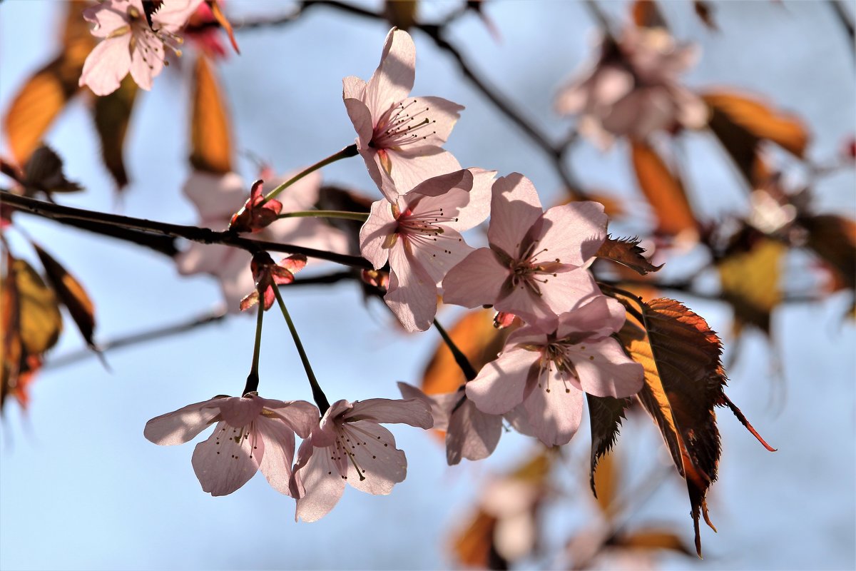
[[[407,458],[381,422],[425,429],[434,425],[431,409],[421,399],[334,402],[297,451],[291,479],[295,521],[316,521],[328,514],[342,497],[345,482],[385,496],[404,480]]]

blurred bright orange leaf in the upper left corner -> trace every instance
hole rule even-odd
[[[17,164],[27,162],[56,116],[78,92],[83,62],[95,46],[82,15],[86,4],[67,3],[62,52],[27,80],[3,117],[3,132]]]

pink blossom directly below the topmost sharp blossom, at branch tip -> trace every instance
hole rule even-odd
[[[380,269],[389,261],[383,300],[408,331],[424,331],[437,313],[437,284],[473,248],[461,232],[488,215],[496,171],[458,170],[381,199],[360,229],[360,252]]]

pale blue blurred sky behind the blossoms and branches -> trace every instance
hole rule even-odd
[[[367,4],[375,6],[375,4]],[[443,13],[454,3],[424,7]],[[853,46],[826,3],[716,3],[722,33],[706,30],[689,3],[665,6],[679,39],[702,48],[686,76],[693,87],[719,86],[761,93],[805,119],[814,139],[809,155],[826,161],[856,126]],[[853,4],[850,4],[853,8]],[[23,81],[55,53],[61,3],[7,0],[0,4],[0,110]],[[620,17],[623,4],[604,3]],[[230,2],[235,14],[282,14],[288,3]],[[552,112],[556,90],[591,55],[595,27],[584,7],[568,2],[490,2],[485,8],[502,34],[491,39],[474,15],[455,24],[455,45],[533,122],[558,138],[572,124]],[[852,10],[851,10],[852,11]],[[235,148],[253,152],[282,172],[312,164],[354,140],[341,100],[347,75],[368,79],[388,26],[313,9],[288,27],[239,33],[241,57],[220,64],[229,95]],[[509,124],[430,39],[414,34],[416,95],[438,95],[467,107],[448,148],[464,166],[532,179],[544,204],[561,197],[559,181],[538,149]],[[194,223],[181,195],[187,164],[188,72],[192,60],[170,66],[150,93],[140,93],[128,134],[132,179],[121,209],[136,217]],[[693,205],[707,217],[746,212],[746,193],[706,134],[687,138],[687,175]],[[112,182],[98,160],[98,141],[76,98],[47,136],[65,159],[68,178],[85,193],[62,203],[98,211],[116,207]],[[7,147],[3,147],[5,150]],[[640,217],[611,228],[644,231],[650,222],[622,143],[603,153],[583,142],[571,164],[588,187],[630,199]],[[247,180],[253,164],[241,159]],[[377,199],[359,158],[324,170],[324,180],[362,189]],[[853,217],[853,170],[815,187],[817,210]],[[179,277],[169,259],[50,221],[18,216],[86,286],[97,306],[98,339],[192,318],[219,302],[209,277]],[[29,257],[23,241],[15,253]],[[788,283],[805,283],[808,261],[790,259]],[[332,266],[329,266],[330,269]],[[680,267],[675,270],[680,270]],[[665,271],[675,271],[669,265]],[[677,272],[680,273],[680,272]],[[800,293],[796,290],[794,293]],[[330,400],[398,396],[395,381],[416,383],[437,344],[433,331],[404,336],[382,307],[366,307],[352,284],[289,290],[286,300],[306,351]],[[714,330],[726,332],[730,310],[682,297]],[[779,451],[770,454],[726,411],[719,415],[723,452],[720,480],[709,497],[719,532],[703,528],[706,559],[698,568],[854,568],[856,537],[856,334],[842,322],[847,300],[782,307],[774,338],[749,334],[728,372],[728,396]],[[440,314],[454,321],[455,309]],[[193,475],[193,445],[159,447],[142,437],[147,419],[217,394],[237,394],[253,348],[253,319],[229,318],[180,337],[46,370],[21,413],[7,407],[0,431],[0,568],[443,568],[451,562],[449,533],[479,496],[485,474],[500,472],[531,449],[506,434],[487,461],[446,467],[443,449],[426,433],[391,426],[407,452],[407,479],[388,497],[348,488],[323,520],[294,523],[294,501],[257,476],[228,497],[202,492]],[[76,351],[73,324],[51,356]],[[261,358],[263,396],[311,400],[300,360],[282,319],[265,320]],[[586,422],[584,422],[584,425]],[[584,428],[569,446],[562,482],[586,481],[589,446]],[[662,442],[643,419],[622,431],[627,479],[662,473]],[[652,472],[653,470],[653,472]],[[559,545],[591,522],[586,494],[548,510],[547,536]],[[661,486],[630,522],[665,523],[692,544],[686,489],[679,479]],[[695,562],[663,558],[667,568]]]

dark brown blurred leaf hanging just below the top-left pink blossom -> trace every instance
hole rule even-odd
[[[128,75],[115,92],[96,98],[92,109],[95,129],[98,131],[98,139],[101,140],[101,158],[104,159],[104,166],[110,171],[119,190],[128,184],[123,158],[125,134],[128,132],[128,122],[134,110],[137,90],[134,78]]]

